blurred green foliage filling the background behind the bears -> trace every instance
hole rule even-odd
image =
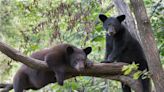
[[[0,40],[26,55],[59,43],[70,43],[78,47],[92,46],[93,52],[89,58],[102,61],[105,31],[102,31],[98,14],[106,13],[108,16],[113,16],[116,10],[107,10],[110,2],[111,0],[1,0]],[[164,63],[163,3],[160,2],[156,8],[157,0],[144,0],[144,2],[158,43],[161,61]],[[0,81],[12,82],[11,76],[19,66],[20,63],[12,62],[0,54]],[[134,77],[137,78],[139,74]],[[54,90],[121,92],[118,82],[91,77],[77,77],[77,81],[67,80],[63,87],[50,84],[38,92],[54,92]]]

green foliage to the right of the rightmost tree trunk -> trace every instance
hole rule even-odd
[[[153,2],[154,3],[154,2]],[[151,12],[151,23],[156,41],[158,44],[158,49],[160,52],[161,62],[164,64],[164,3],[159,0],[158,3],[153,4]]]

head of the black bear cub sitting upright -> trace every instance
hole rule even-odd
[[[117,34],[121,29],[121,22],[125,19],[125,15],[108,18],[104,14],[99,14],[99,19],[103,22],[103,27],[111,36]]]

